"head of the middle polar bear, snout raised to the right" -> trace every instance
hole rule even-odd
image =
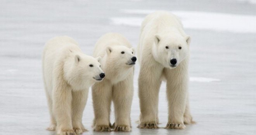
[[[119,68],[132,67],[137,58],[134,56],[135,49],[126,46],[107,46],[107,61]]]

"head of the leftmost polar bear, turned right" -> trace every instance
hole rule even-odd
[[[64,66],[65,78],[73,89],[89,88],[102,81],[105,73],[100,68],[101,57],[94,58],[85,54],[77,54],[71,62]]]

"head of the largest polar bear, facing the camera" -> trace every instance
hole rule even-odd
[[[180,34],[172,33],[156,34],[152,54],[157,62],[165,68],[176,68],[187,56],[189,56],[190,36],[183,37]]]

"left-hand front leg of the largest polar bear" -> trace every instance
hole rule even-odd
[[[157,104],[163,69],[141,67],[138,79],[140,124],[138,128],[158,128]]]

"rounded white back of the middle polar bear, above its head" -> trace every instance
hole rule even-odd
[[[106,47],[109,46],[126,46],[131,48],[131,43],[128,39],[119,33],[107,33],[102,35],[95,44],[93,57],[104,57],[106,55]]]

